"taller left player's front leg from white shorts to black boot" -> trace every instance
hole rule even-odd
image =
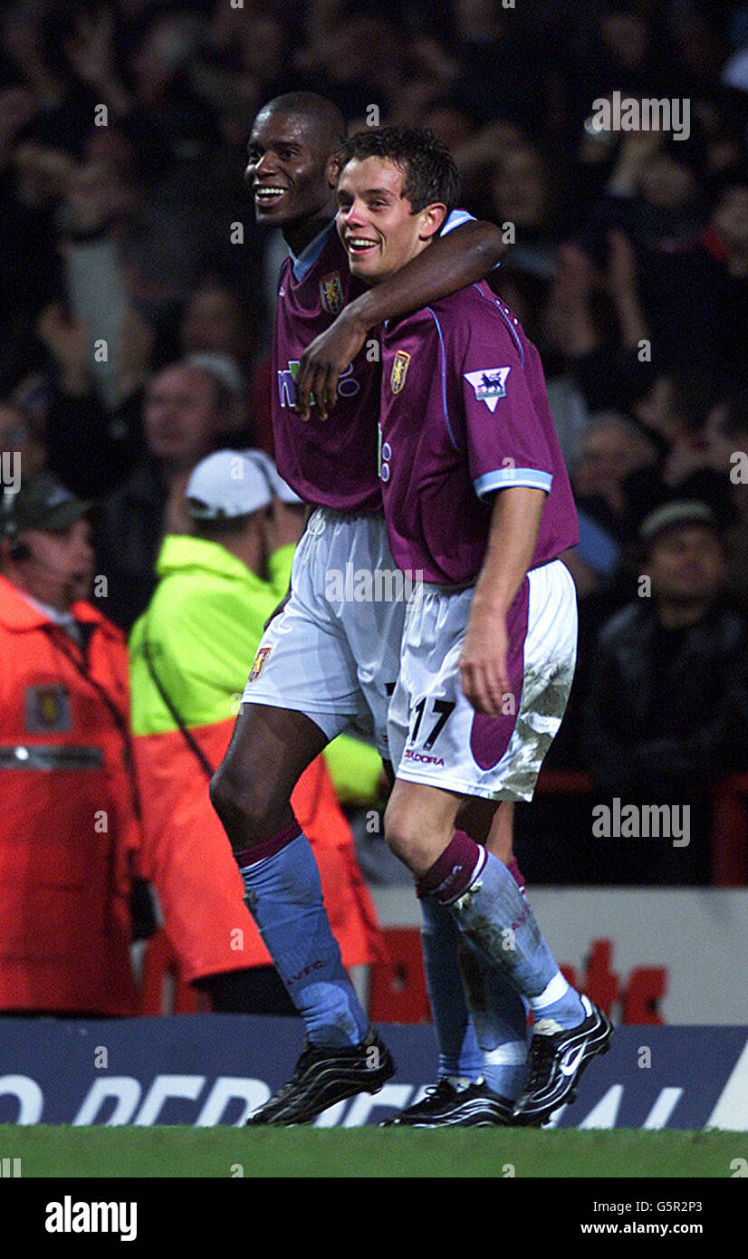
[[[315,590],[324,573],[312,534],[297,550],[293,594],[262,640],[210,789],[247,906],[309,1040],[293,1079],[252,1117],[258,1123],[305,1122],[344,1097],[377,1092],[394,1070],[343,966],[317,865],[291,808],[301,773],[363,704],[346,646],[324,622]]]

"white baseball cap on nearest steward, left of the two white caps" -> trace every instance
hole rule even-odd
[[[195,520],[230,520],[267,507],[272,488],[256,460],[242,451],[215,451],[194,468],[185,501]]]

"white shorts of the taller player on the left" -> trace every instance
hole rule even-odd
[[[296,548],[291,597],[262,637],[242,703],[305,713],[329,739],[349,726],[373,734],[388,758],[411,592],[382,514],[317,507]]]

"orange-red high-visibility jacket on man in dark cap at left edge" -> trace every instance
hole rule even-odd
[[[0,577],[0,1010],[133,1015],[127,651],[86,651]]]

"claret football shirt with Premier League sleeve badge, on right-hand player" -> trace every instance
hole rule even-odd
[[[507,486],[545,491],[530,568],[574,546],[540,358],[489,286],[390,321],[382,351],[379,476],[398,567],[439,585],[473,582],[494,494]]]

